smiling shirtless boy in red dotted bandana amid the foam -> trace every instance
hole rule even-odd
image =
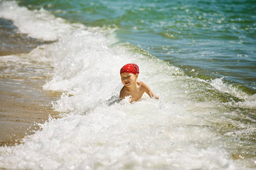
[[[132,96],[132,101],[139,100],[144,92],[150,97],[158,96],[146,85],[144,82],[137,81],[139,74],[139,67],[135,63],[128,63],[124,65],[120,70],[121,81],[124,84],[124,87],[120,91],[120,99],[124,99],[126,96]]]

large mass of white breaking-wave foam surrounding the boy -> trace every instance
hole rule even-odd
[[[218,83],[189,78],[160,59],[112,45],[112,37],[79,29],[23,55],[54,66],[43,88],[63,92],[53,105],[62,117],[49,118],[22,145],[1,147],[0,167],[241,169],[225,150],[230,135],[224,138],[218,129],[230,122],[220,116],[229,108],[212,95]],[[160,100],[116,100],[119,70],[130,62],[139,65],[139,79]]]

